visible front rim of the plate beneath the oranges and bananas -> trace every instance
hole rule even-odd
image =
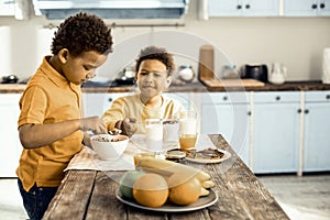
[[[139,205],[136,201],[128,199],[123,197],[119,189],[116,191],[116,197],[123,204],[127,204],[129,206],[150,210],[150,211],[162,211],[162,212],[183,212],[183,211],[195,211],[199,209],[204,209],[206,207],[212,206],[218,201],[218,195],[216,191],[210,189],[210,194],[208,196],[200,197],[197,201],[194,204],[190,204],[188,206],[176,206],[170,202],[166,202],[164,206],[160,208],[150,208],[142,205]]]

